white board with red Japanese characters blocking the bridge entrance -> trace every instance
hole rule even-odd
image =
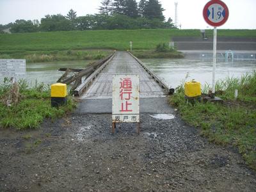
[[[138,75],[113,76],[112,122],[140,122]]]

